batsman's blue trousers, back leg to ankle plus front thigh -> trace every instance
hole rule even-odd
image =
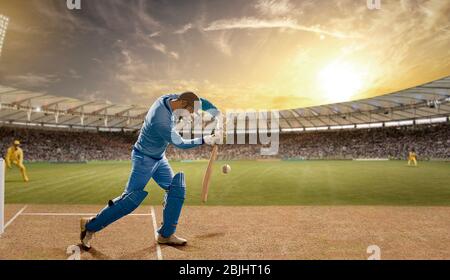
[[[167,158],[153,159],[134,149],[131,161],[132,170],[124,193],[110,201],[108,206],[86,225],[88,231],[98,232],[133,212],[147,196],[144,188],[151,178],[165,191],[169,190],[174,173]]]

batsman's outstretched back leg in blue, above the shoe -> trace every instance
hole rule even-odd
[[[109,201],[108,205],[86,224],[89,232],[98,232],[133,212],[147,197],[144,191],[148,181],[158,168],[159,161],[134,151],[132,155],[132,170],[124,193]]]

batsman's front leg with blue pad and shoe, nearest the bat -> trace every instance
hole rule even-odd
[[[164,198],[163,223],[158,230],[159,243],[184,245],[187,241],[174,235],[186,197],[184,173],[173,175],[169,162],[164,159],[153,179],[166,191]]]

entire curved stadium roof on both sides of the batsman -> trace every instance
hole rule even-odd
[[[135,130],[148,108],[83,101],[0,85],[0,123]],[[421,86],[351,102],[280,111],[282,131],[370,127],[450,116],[450,76]]]

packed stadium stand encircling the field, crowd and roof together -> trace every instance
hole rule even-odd
[[[129,160],[148,108],[82,101],[0,85],[0,148],[21,140],[25,160]],[[232,159],[450,159],[450,77],[392,94],[279,111],[276,156],[260,145],[223,145]],[[206,159],[210,148],[170,147],[172,160]]]

